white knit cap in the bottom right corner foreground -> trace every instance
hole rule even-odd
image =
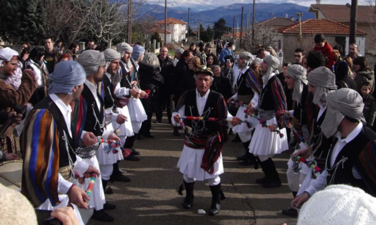
[[[344,184],[329,185],[305,202],[297,225],[375,224],[376,198]]]

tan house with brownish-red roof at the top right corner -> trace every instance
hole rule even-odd
[[[350,26],[350,6],[312,4],[308,12],[313,12],[315,19],[328,19]],[[365,49],[376,50],[376,13],[373,8],[368,5],[358,5],[356,23],[357,29],[367,33]]]

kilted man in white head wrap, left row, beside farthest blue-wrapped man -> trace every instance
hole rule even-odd
[[[146,92],[142,91],[138,84],[138,64],[131,58],[133,48],[129,44],[122,42],[116,45],[116,50],[121,54],[120,86],[122,88],[126,88],[126,93],[124,94],[124,97],[130,98],[128,103],[128,109],[134,133],[133,136],[127,137],[124,143],[124,148],[131,149],[132,155],[136,156],[140,153],[133,149],[133,143],[135,142],[138,131],[141,128],[142,122],[147,120],[146,112],[139,98],[145,97]],[[135,157],[127,157],[126,159],[139,160]]]

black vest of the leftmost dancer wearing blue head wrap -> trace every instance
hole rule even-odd
[[[65,147],[65,137],[64,137],[64,131],[65,134],[67,134],[68,138],[68,151],[70,154],[70,157],[74,162],[76,162],[76,154],[73,152],[74,149],[74,140],[69,135],[69,131],[67,128],[67,124],[65,123],[64,116],[62,115],[60,109],[56,104],[52,101],[52,99],[47,96],[42,101],[40,101],[33,109],[47,109],[52,114],[53,119],[56,123],[56,128],[59,132],[59,168],[62,168],[64,166],[69,166],[69,157],[67,153],[67,149]],[[71,146],[72,148],[70,148]]]

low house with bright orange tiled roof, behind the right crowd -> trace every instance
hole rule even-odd
[[[301,47],[306,52],[311,51],[314,46],[314,36],[318,33],[322,33],[326,38],[326,42],[332,47],[340,45],[343,50],[349,48],[350,27],[345,24],[327,19],[308,19],[302,21],[301,27],[301,42],[299,42],[299,23],[276,29],[277,35],[275,39],[278,45],[277,49],[282,49],[285,61],[293,61],[295,48]],[[364,55],[364,45],[367,33],[362,30],[356,30],[356,35],[360,54]]]

